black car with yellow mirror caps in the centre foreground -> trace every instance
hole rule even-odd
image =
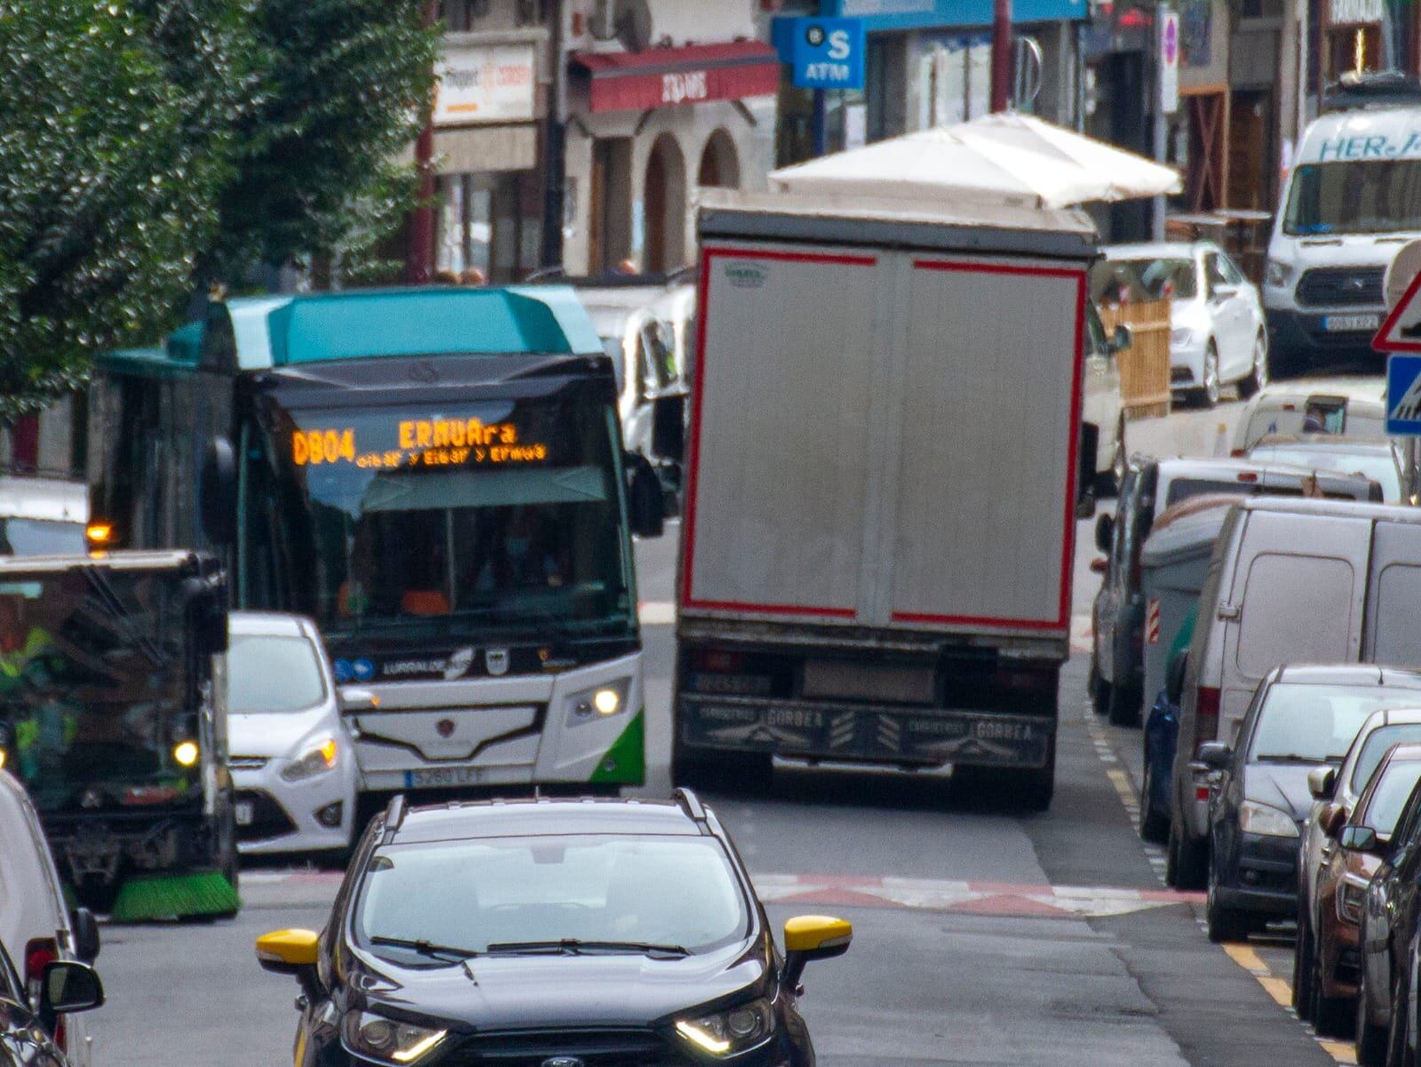
[[[782,955],[715,813],[493,800],[377,817],[325,931],[257,939],[303,997],[297,1067],[811,1067],[804,965],[853,928],[801,916]]]

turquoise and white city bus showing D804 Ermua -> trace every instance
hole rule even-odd
[[[642,781],[661,487],[571,290],[215,303],[98,361],[90,435],[114,544],[210,547],[236,607],[315,619],[365,801]]]

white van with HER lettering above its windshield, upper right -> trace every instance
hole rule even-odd
[[[1275,372],[1370,351],[1384,278],[1421,237],[1421,107],[1323,115],[1303,134],[1263,276]]]

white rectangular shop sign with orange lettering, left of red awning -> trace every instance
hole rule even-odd
[[[446,45],[438,75],[436,126],[533,121],[531,44]]]

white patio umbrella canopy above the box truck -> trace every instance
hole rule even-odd
[[[1179,190],[1179,175],[1030,115],[986,115],[770,175],[782,192],[1066,207]]]

